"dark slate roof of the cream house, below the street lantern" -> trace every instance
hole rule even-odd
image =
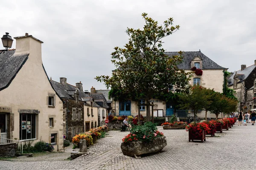
[[[29,54],[14,56],[15,50],[0,51],[0,91],[7,88],[25,64]]]

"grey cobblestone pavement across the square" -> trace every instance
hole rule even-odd
[[[87,155],[73,161],[3,161],[0,170],[247,170],[255,169],[256,126],[234,125],[230,130],[207,137],[206,142],[189,142],[186,130],[163,130],[167,146],[141,159],[124,156],[121,139],[128,132],[110,131],[90,146]],[[58,157],[58,156],[57,156]]]

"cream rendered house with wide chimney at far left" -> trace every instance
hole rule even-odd
[[[0,51],[1,140],[42,140],[63,150],[63,101],[44,69],[41,40],[15,37],[16,50]]]

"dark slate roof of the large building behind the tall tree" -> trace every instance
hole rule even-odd
[[[165,54],[168,55],[169,57],[180,55],[178,54],[178,52],[165,52]],[[193,59],[195,59],[195,57],[199,57],[202,59],[203,70],[204,69],[221,69],[221,70],[227,69],[227,68],[221,67],[220,65],[218,65],[217,63],[209,59],[206,55],[201,53],[201,51],[185,51],[183,52],[182,56],[184,57],[183,62],[177,65],[178,68],[182,70],[191,70],[190,63]]]

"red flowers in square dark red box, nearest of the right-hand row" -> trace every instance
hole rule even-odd
[[[190,123],[186,126],[186,131],[189,131],[189,142],[192,140],[201,140],[201,142],[206,141],[205,132],[209,131],[209,126],[200,122],[195,125],[195,123]]]

